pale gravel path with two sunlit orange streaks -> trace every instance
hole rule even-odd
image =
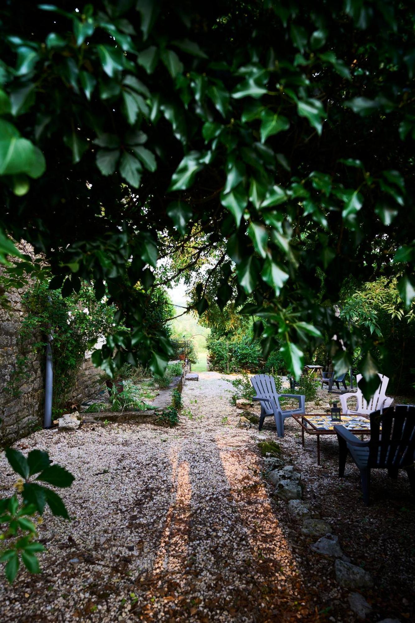
[[[257,442],[276,439],[275,428],[237,429],[229,390],[224,375],[199,373],[184,386],[174,429],[88,424],[15,445],[48,450],[76,480],[62,495],[72,521],[46,513],[39,526],[42,574],[22,571],[15,586],[0,586],[2,623],[356,620],[333,561],[310,560],[310,540],[270,498]],[[310,468],[318,506],[315,448],[302,452],[298,425],[285,426],[282,447]],[[326,476],[320,470],[320,485],[330,487]],[[13,482],[2,456],[4,494]]]

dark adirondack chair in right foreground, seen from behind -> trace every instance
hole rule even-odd
[[[382,427],[380,430],[380,426]],[[370,470],[387,469],[391,478],[398,478],[400,469],[408,473],[409,483],[415,495],[415,407],[398,404],[396,408],[378,409],[370,414],[370,441],[360,441],[344,426],[336,426],[339,444],[338,475],[345,475],[346,456],[360,470],[363,502],[369,505]]]

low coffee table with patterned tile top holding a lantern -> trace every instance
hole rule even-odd
[[[317,465],[320,465],[320,435],[335,435],[335,427],[339,424],[350,432],[361,435],[370,434],[370,419],[365,416],[341,416],[340,422],[332,422],[332,416],[321,413],[307,413],[305,416],[292,416],[302,428],[302,445],[304,447],[304,431],[309,435],[317,435]]]

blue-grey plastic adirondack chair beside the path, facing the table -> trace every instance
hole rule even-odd
[[[279,437],[284,437],[285,418],[291,417],[292,414],[305,414],[305,396],[277,393],[274,378],[268,374],[255,374],[255,376],[251,376],[250,382],[255,392],[257,392],[257,395],[254,396],[254,400],[261,404],[258,430],[262,429],[265,417],[274,416],[277,435]],[[280,398],[296,398],[298,400],[298,409],[284,411],[280,406]]]

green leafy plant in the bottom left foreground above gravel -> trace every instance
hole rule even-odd
[[[36,542],[34,521],[40,523],[39,515],[43,515],[45,505],[49,506],[53,515],[69,519],[59,495],[40,483],[70,487],[74,476],[64,467],[50,465],[49,454],[42,450],[31,450],[27,457],[12,448],[6,448],[5,452],[12,470],[21,477],[15,485],[21,498],[15,493],[0,500],[0,524],[6,525],[0,535],[0,545],[5,546],[0,551],[0,562],[6,563],[6,578],[12,583],[19,571],[20,559],[30,573],[40,571],[36,554],[44,551],[44,546]]]

